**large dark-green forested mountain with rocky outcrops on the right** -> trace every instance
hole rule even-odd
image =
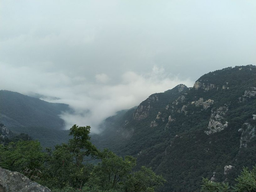
[[[162,192],[199,191],[202,177],[232,183],[242,166],[256,164],[256,66],[224,68],[192,88],[152,94],[104,126],[92,141],[162,174]]]

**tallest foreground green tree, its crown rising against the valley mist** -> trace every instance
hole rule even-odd
[[[72,186],[81,188],[88,180],[92,165],[84,164],[84,157],[98,158],[99,151],[90,142],[90,126],[77,126],[70,128],[73,136],[68,144],[55,146],[55,150],[48,149],[46,170],[41,183],[52,188]]]

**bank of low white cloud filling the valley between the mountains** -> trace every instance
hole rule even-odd
[[[120,81],[111,84],[107,83],[109,77],[106,74],[96,75],[96,82],[91,82],[84,77],[42,72],[31,67],[17,68],[0,63],[0,68],[0,89],[60,98],[43,99],[68,104],[74,110],[74,114],[63,113],[60,116],[66,122],[66,129],[73,124],[90,125],[92,133],[102,131],[99,125],[103,120],[119,110],[140,104],[150,94],[164,92],[181,83],[187,86],[193,84],[189,79],[180,80],[157,66],[144,74],[125,72],[119,77]]]

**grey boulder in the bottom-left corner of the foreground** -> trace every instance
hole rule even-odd
[[[0,168],[0,186],[3,192],[51,192],[23,174]],[[1,189],[1,188],[0,188]]]

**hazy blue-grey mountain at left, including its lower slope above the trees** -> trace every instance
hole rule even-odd
[[[62,112],[72,112],[66,104],[50,103],[17,92],[0,90],[0,122],[15,134],[28,134],[42,146],[53,147],[69,139]]]

